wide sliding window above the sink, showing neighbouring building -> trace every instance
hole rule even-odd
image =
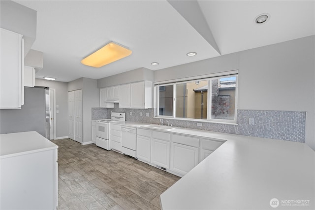
[[[156,85],[157,117],[236,122],[237,74]]]

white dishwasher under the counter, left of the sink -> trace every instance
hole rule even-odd
[[[122,126],[123,153],[136,157],[136,128]]]

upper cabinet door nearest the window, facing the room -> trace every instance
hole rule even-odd
[[[144,83],[130,84],[130,108],[144,108]]]

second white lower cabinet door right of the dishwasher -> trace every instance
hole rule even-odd
[[[152,138],[151,163],[169,169],[170,143]]]

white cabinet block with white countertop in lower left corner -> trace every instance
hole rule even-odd
[[[35,131],[0,139],[0,209],[56,210],[58,147]]]

